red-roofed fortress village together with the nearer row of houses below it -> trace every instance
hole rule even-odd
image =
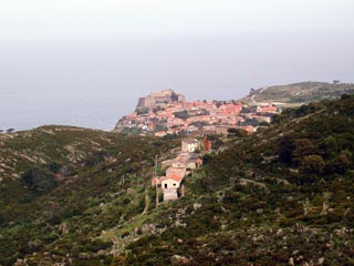
[[[186,101],[183,94],[167,89],[140,98],[136,110],[125,115],[115,131],[140,135],[181,135],[180,152],[162,162],[165,175],[154,176],[152,187],[163,201],[185,194],[184,180],[202,165],[202,155],[211,151],[208,135],[232,134],[238,130],[251,134],[271,122],[280,109],[272,103],[244,104],[240,101]],[[200,137],[201,136],[201,137]],[[204,140],[204,141],[199,141]],[[158,204],[158,200],[157,200]]]

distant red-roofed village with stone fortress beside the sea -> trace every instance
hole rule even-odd
[[[280,109],[272,103],[252,106],[240,101],[186,101],[171,89],[140,98],[136,110],[121,119],[116,132],[165,136],[228,134],[230,129],[252,133],[271,122]]]

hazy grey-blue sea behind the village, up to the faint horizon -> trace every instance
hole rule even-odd
[[[0,45],[0,130],[113,130],[139,96],[228,100],[251,88],[353,82],[351,34],[299,33]]]

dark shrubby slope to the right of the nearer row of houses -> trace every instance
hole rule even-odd
[[[126,265],[353,265],[353,117],[354,98],[310,104],[231,140]]]

